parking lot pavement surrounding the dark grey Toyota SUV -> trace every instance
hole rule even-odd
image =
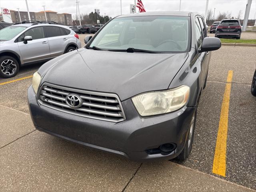
[[[83,42],[85,35],[79,36]],[[222,46],[212,52],[192,153],[183,163],[132,162],[35,130],[27,106],[27,89],[41,65],[25,66],[14,78],[0,78],[2,191],[256,190],[256,98],[250,93],[256,68],[255,47]],[[231,80],[227,80],[231,73]],[[222,134],[218,130],[227,85],[231,86],[226,162],[219,165],[225,166],[225,176],[221,176],[212,168],[217,138]]]

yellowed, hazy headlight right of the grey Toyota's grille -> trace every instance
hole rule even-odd
[[[150,116],[172,112],[182,108],[189,97],[189,86],[175,89],[148,92],[132,98],[132,102],[141,116]]]

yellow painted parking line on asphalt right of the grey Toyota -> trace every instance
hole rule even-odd
[[[228,71],[226,88],[223,96],[220,112],[219,130],[216,140],[215,154],[212,166],[212,172],[221,176],[226,176],[226,148],[228,134],[228,110],[230,100],[230,90],[233,71]]]

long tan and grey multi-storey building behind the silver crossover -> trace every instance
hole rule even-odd
[[[55,21],[58,23],[62,23],[64,25],[67,26],[72,26],[73,22],[72,22],[72,15],[69,13],[58,13],[55,11],[50,11],[47,10],[46,12],[46,18],[48,21]],[[44,11],[40,11],[40,12],[29,12],[30,13],[30,19],[32,21],[45,21],[45,14]],[[18,23],[20,22],[20,18],[21,21],[28,21],[28,12],[26,11],[20,11],[20,17],[19,17],[19,12],[15,11],[15,10],[10,10],[10,14],[12,17],[12,22],[13,23]],[[0,20],[2,21],[2,14],[0,14]]]

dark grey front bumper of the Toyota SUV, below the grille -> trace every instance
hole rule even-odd
[[[28,89],[28,103],[32,121],[38,130],[137,161],[178,156],[184,148],[190,121],[196,110],[185,106],[169,114],[142,118],[128,99],[122,102],[126,120],[114,123],[42,106],[38,104],[32,86]],[[146,152],[166,143],[176,144],[170,154]]]

